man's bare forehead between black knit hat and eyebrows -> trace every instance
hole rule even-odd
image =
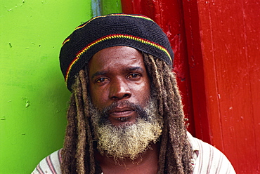
[[[98,51],[89,61],[89,72],[100,69],[112,70],[123,67],[141,67],[145,69],[143,55],[135,48],[128,46],[113,46]]]

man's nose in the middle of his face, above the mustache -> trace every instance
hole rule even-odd
[[[131,97],[131,90],[124,79],[117,79],[111,83],[110,99],[122,100]]]

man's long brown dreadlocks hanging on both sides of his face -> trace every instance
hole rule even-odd
[[[146,53],[143,53],[143,58],[152,88],[157,93],[158,112],[164,118],[157,173],[192,173],[192,149],[187,138],[183,105],[175,75],[163,60]],[[77,76],[67,110],[62,173],[101,173],[94,158],[86,67]]]

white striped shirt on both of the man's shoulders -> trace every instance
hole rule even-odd
[[[234,174],[235,170],[226,156],[212,145],[193,138],[188,133],[188,140],[193,147],[193,174]],[[50,154],[34,169],[32,174],[60,174],[61,149]]]

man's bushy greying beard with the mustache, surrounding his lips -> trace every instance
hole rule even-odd
[[[147,107],[141,108],[139,105],[133,106],[131,102],[124,102],[124,105],[133,106],[138,115],[135,123],[124,126],[113,126],[110,123],[107,113],[111,107],[98,111],[90,105],[91,123],[100,154],[116,160],[134,160],[149,148],[151,142],[156,143],[162,134],[163,119],[155,103],[155,99],[152,99]],[[117,103],[112,105],[115,107]]]

